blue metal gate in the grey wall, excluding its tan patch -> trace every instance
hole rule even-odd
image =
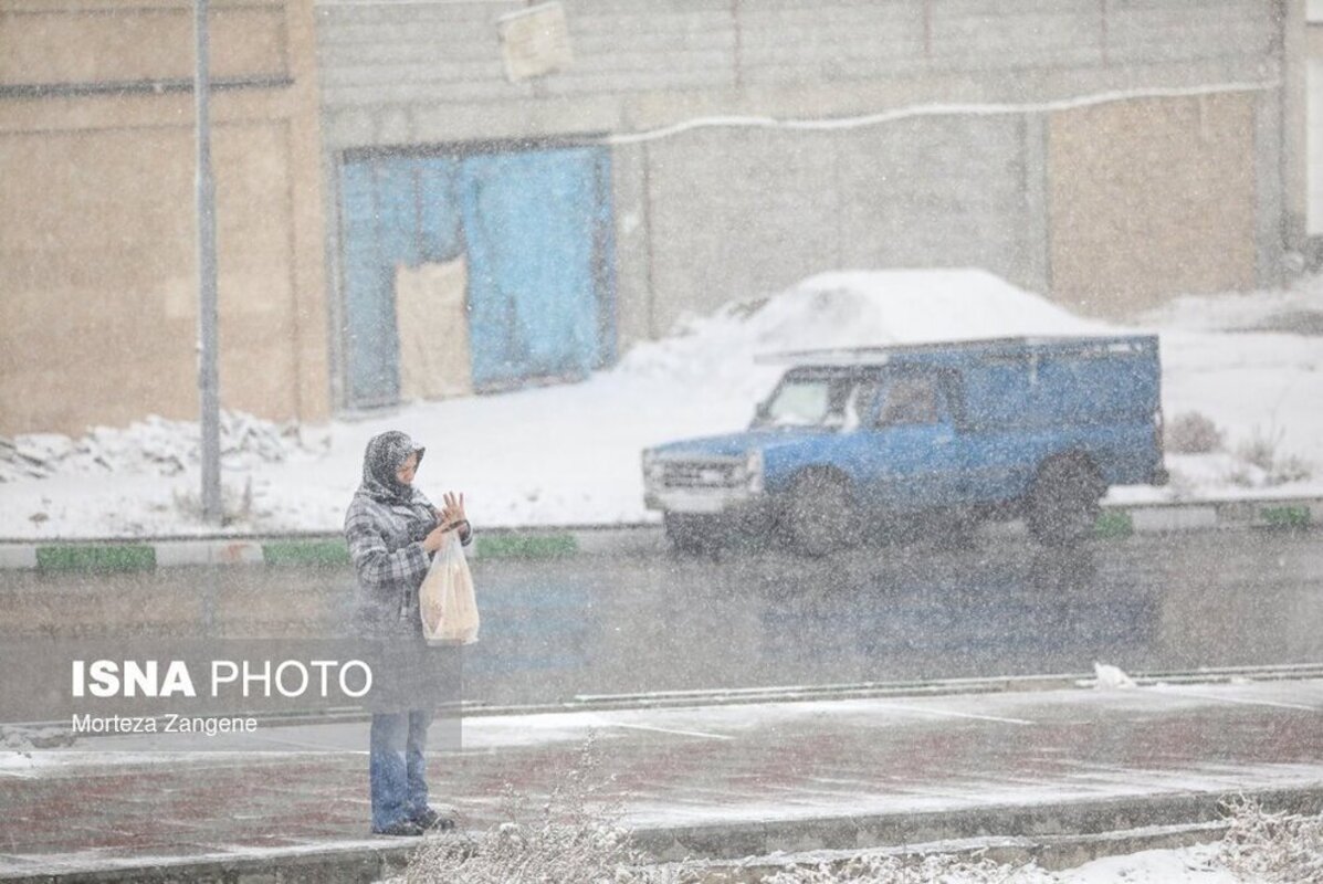
[[[459,255],[476,389],[578,378],[613,361],[609,163],[594,147],[347,161],[348,402],[398,400],[396,267]]]

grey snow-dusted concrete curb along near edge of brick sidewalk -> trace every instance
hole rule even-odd
[[[1240,798],[1269,813],[1314,815],[1323,786],[1273,789]],[[811,851],[811,863],[841,864],[863,854],[921,859],[942,852],[1007,864],[1033,860],[1064,869],[1103,856],[1187,847],[1221,838],[1225,797],[1217,793],[999,805],[951,811],[897,813],[794,820],[638,828],[634,842],[658,864],[696,860],[699,880],[755,881],[785,871]],[[225,881],[269,884],[335,880],[372,884],[398,875],[422,839],[405,843],[329,842],[205,856],[144,860],[32,859],[32,868],[0,871],[3,881],[120,884],[127,881]],[[798,856],[796,856],[798,855]]]

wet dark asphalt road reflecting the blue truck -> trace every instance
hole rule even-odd
[[[466,695],[576,695],[1323,662],[1323,535],[1222,532],[826,560],[672,553],[478,561],[482,641]],[[7,634],[50,617],[179,609],[228,635],[341,622],[348,569],[0,573]],[[90,611],[90,614],[89,614]],[[130,611],[126,614],[124,611]],[[38,615],[40,614],[40,615]],[[111,614],[106,614],[111,617]],[[42,619],[45,618],[45,619]],[[127,618],[127,619],[126,619]],[[86,630],[83,630],[86,633]]]

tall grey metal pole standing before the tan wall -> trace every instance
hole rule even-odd
[[[202,420],[202,520],[221,521],[221,390],[217,371],[216,181],[212,177],[210,75],[208,71],[208,0],[194,0],[197,70],[197,389]]]

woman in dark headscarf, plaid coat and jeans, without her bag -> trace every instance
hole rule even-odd
[[[413,487],[423,451],[397,430],[373,437],[363,457],[363,484],[344,519],[359,574],[357,631],[385,639],[388,651],[423,647],[418,588],[431,557],[451,531],[464,545],[472,540],[463,495],[447,492],[445,507],[437,509]],[[406,708],[411,704],[397,691],[389,708],[374,708],[372,715],[368,775],[372,831],[380,835],[454,827],[452,819],[427,806],[423,752],[433,709]]]

